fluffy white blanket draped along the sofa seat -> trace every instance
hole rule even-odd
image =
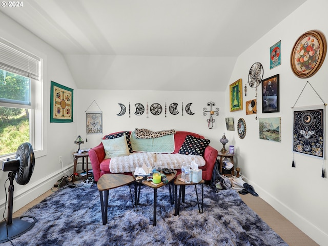
[[[134,172],[136,167],[142,167],[144,163],[152,168],[180,169],[183,163],[190,165],[192,161],[195,161],[198,167],[205,166],[205,160],[200,155],[133,152],[127,156],[111,158],[109,170],[111,173]]]

